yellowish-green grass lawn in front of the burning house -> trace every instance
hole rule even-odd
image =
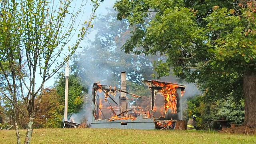
[[[26,130],[20,130],[22,140],[25,134]],[[0,131],[0,144],[15,143],[14,130]],[[256,136],[171,130],[34,129],[31,144],[256,144]]]

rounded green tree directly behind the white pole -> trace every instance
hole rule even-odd
[[[60,95],[59,102],[65,102],[65,82],[64,73],[60,73],[58,80],[54,84],[58,95]],[[76,74],[70,74],[68,78],[68,113],[78,113],[84,104],[84,96],[87,94],[88,88],[82,78]]]

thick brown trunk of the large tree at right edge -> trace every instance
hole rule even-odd
[[[245,100],[245,116],[244,124],[256,127],[256,72],[245,72],[244,74],[244,100]]]

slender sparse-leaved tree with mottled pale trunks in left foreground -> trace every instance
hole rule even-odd
[[[0,92],[10,100],[14,109],[18,144],[21,141],[16,122],[17,112],[22,113],[27,123],[24,144],[29,144],[44,83],[70,59],[88,28],[92,27],[91,21],[99,6],[98,0],[91,0],[92,13],[88,21],[80,20],[88,1],[78,2],[0,1],[0,74],[4,77],[2,81],[7,84],[7,87],[0,87]],[[73,38],[74,35],[77,38]],[[23,70],[26,70],[27,75]],[[41,82],[36,84],[38,78],[41,78]],[[18,100],[21,99],[26,104],[27,114],[18,105]]]

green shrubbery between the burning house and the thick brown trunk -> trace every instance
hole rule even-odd
[[[200,129],[208,129],[212,120],[220,120],[222,117],[235,120],[236,124],[242,124],[244,120],[244,100],[237,101],[232,94],[214,101],[208,100],[206,95],[194,96],[187,99],[184,108],[184,119],[196,114]]]

